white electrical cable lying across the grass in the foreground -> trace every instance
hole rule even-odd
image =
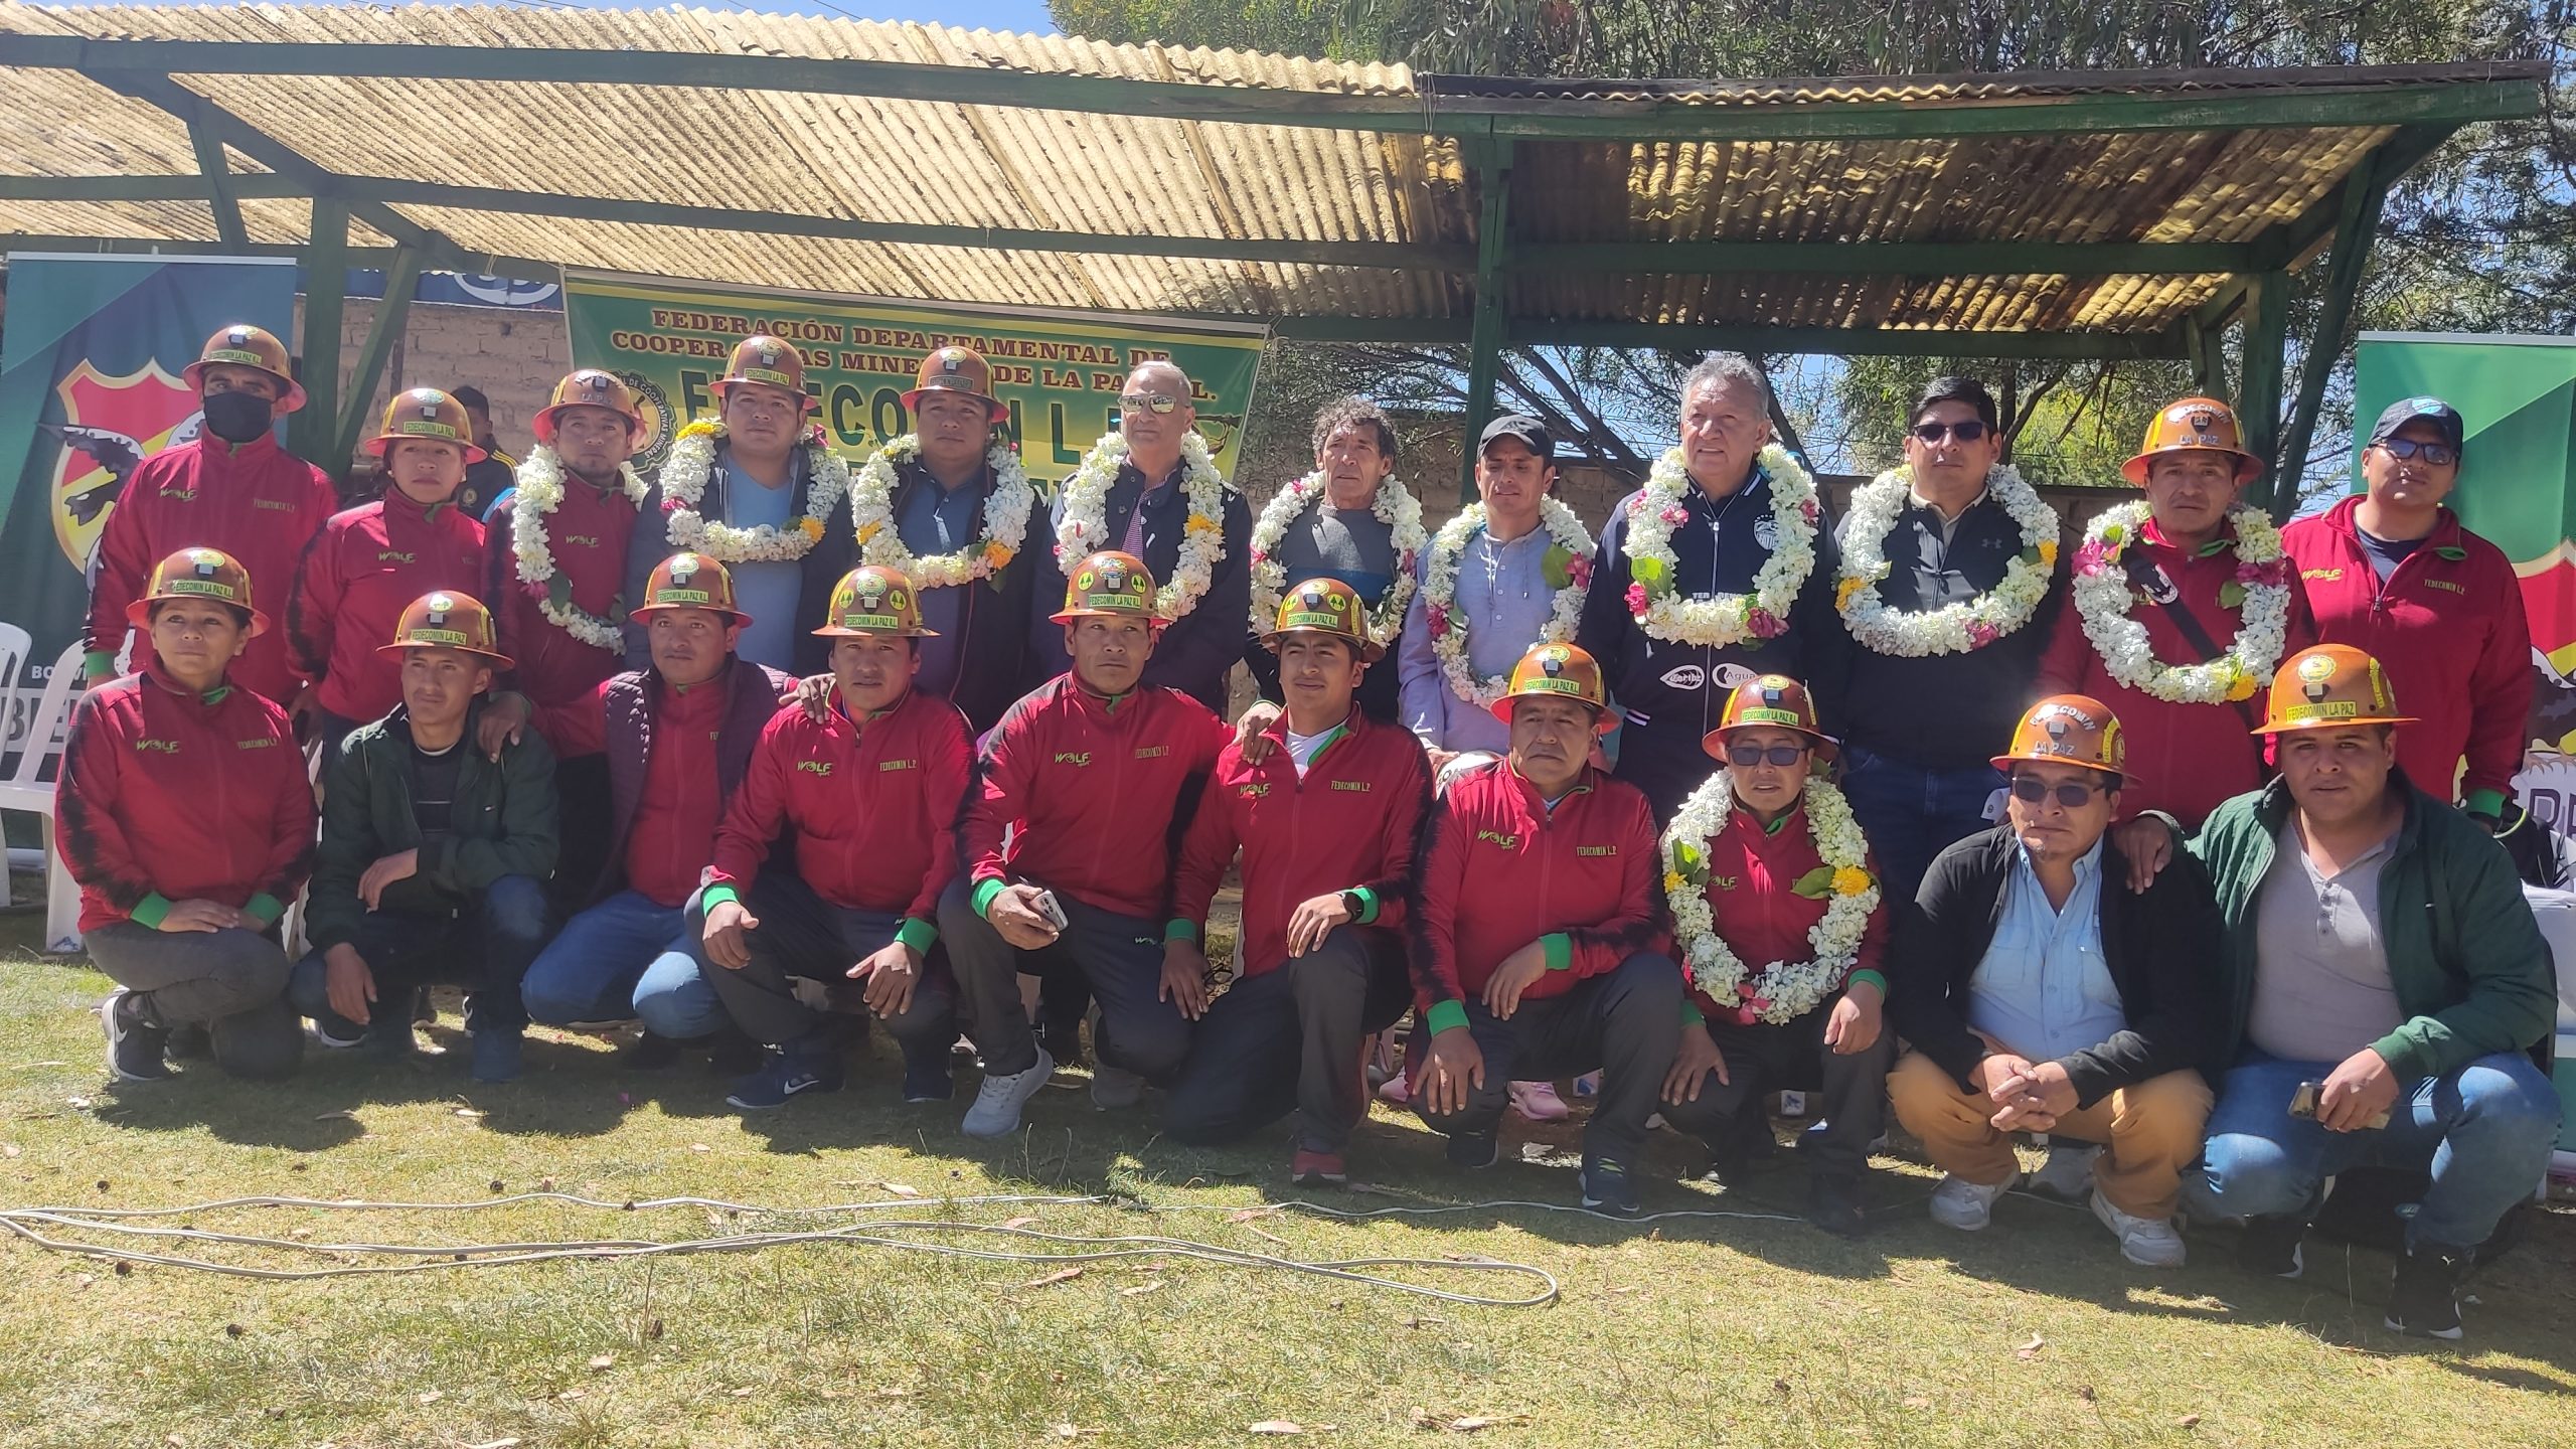
[[[1587,1212],[1577,1207],[1551,1204],[1551,1201],[1481,1201],[1481,1204],[1443,1204],[1443,1207],[1370,1207],[1370,1209],[1345,1209],[1319,1201],[1278,1201],[1262,1207],[1229,1207],[1229,1204],[1136,1204],[1113,1196],[1028,1196],[1028,1194],[987,1194],[987,1196],[958,1196],[958,1199],[886,1199],[886,1201],[845,1201],[824,1207],[760,1207],[739,1204],[708,1196],[657,1196],[639,1201],[605,1201],[580,1194],[559,1191],[531,1191],[507,1194],[479,1201],[361,1201],[361,1199],[304,1199],[304,1196],[234,1196],[222,1201],[201,1201],[191,1207],[21,1207],[0,1209],[0,1227],[8,1227],[18,1238],[36,1243],[39,1248],[57,1253],[80,1253],[90,1258],[111,1258],[126,1263],[157,1263],[167,1269],[193,1269],[206,1274],[227,1274],[242,1279],[265,1281],[304,1281],[304,1279],[337,1279],[337,1276],[374,1276],[374,1274],[420,1274],[433,1269],[477,1269],[500,1263],[549,1263],[564,1258],[647,1258],[647,1256],[683,1256],[683,1253],[742,1253],[760,1248],[783,1248],[796,1243],[863,1243],[873,1248],[899,1248],[912,1253],[940,1253],[948,1258],[976,1258],[997,1263],[1054,1263],[1054,1266],[1082,1266],[1082,1263],[1110,1263],[1123,1258],[1182,1258],[1216,1263],[1226,1269],[1275,1269],[1291,1274],[1306,1274],[1319,1279],[1350,1281],[1363,1287],[1381,1287],[1394,1292],[1406,1292],[1437,1302],[1463,1305],[1463,1307],[1540,1307],[1556,1302],[1558,1284],[1546,1269],[1530,1263],[1510,1263],[1499,1258],[1332,1258],[1332,1261],[1306,1261],[1288,1258],[1278,1253],[1252,1253],[1244,1248],[1226,1248],[1216,1243],[1193,1243],[1188,1238],[1159,1238],[1159,1235],[1069,1235],[1069,1232],[1043,1232],[1023,1225],[987,1225],[987,1222],[948,1222],[948,1220],[860,1220],[837,1227],[817,1227],[799,1232],[729,1232],[719,1238],[683,1238],[683,1240],[649,1240],[649,1238],[592,1238],[592,1240],[567,1240],[567,1243],[312,1243],[294,1238],[265,1238],[247,1232],[214,1232],[206,1227],[180,1225],[180,1227],[155,1227],[142,1220],[162,1217],[198,1217],[209,1212],[252,1209],[252,1207],[283,1207],[304,1212],[482,1212],[495,1207],[515,1204],[569,1204],[603,1212],[657,1212],[696,1207],[711,1212],[732,1214],[760,1214],[760,1217],[824,1217],[824,1214],[860,1214],[884,1209],[912,1209],[922,1207],[1128,1207],[1136,1212],[1252,1212],[1267,1217],[1273,1212],[1311,1212],[1319,1217],[1334,1217],[1345,1222],[1365,1222],[1373,1217],[1430,1217],[1453,1212],[1494,1212],[1507,1207],[1540,1209],[1540,1212]],[[1597,1217],[1597,1214],[1595,1214]],[[1685,1209],[1685,1212],[1656,1212],[1623,1222],[1659,1222],[1674,1217],[1739,1217],[1739,1220],[1765,1220],[1765,1222],[1795,1222],[1795,1217],[1777,1212],[1718,1212],[1718,1209]],[[106,1232],[118,1238],[149,1238],[149,1240],[178,1240],[178,1243],[204,1243],[204,1245],[234,1245],[234,1248],[263,1248],[273,1253],[296,1256],[381,1256],[381,1258],[410,1258],[397,1263],[330,1263],[319,1269],[258,1269],[242,1263],[219,1263],[211,1258],[188,1258],[178,1253],[152,1253],[152,1250],[118,1250],[103,1248],[98,1243],[82,1243],[75,1238],[57,1238],[52,1230],[70,1232]],[[1061,1250],[1002,1250],[1002,1248],[974,1248],[961,1243],[927,1243],[917,1235],[987,1235],[1010,1240],[1033,1240],[1064,1245]],[[1404,1281],[1373,1269],[1412,1269],[1412,1271],[1443,1271],[1443,1274],[1507,1274],[1520,1279],[1535,1279],[1538,1289],[1522,1297],[1494,1297],[1476,1292],[1453,1292]]]

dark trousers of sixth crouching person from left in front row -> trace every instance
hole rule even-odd
[[[1298,1147],[1340,1152],[1368,1116],[1360,1047],[1412,1000],[1394,931],[1334,926],[1314,951],[1208,1003],[1172,1083],[1164,1132],[1234,1142],[1296,1111]]]

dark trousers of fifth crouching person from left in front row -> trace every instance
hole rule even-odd
[[[966,1003],[966,1029],[984,1055],[984,1073],[1002,1078],[1038,1065],[1038,1036],[1020,1006],[1020,972],[1074,972],[1100,1000],[1092,1036],[1100,1062],[1154,1085],[1172,1080],[1190,1055],[1190,1018],[1170,1000],[1157,1000],[1162,923],[1100,910],[1061,892],[1056,902],[1064,905],[1064,933],[1043,949],[1023,951],[974,913],[966,877],[940,897],[940,941],[948,946],[948,972]]]

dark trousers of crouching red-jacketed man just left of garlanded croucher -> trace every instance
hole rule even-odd
[[[1597,1070],[1602,1091],[1592,1098],[1584,1152],[1633,1165],[1646,1145],[1646,1119],[1662,1106],[1664,1073],[1682,1044],[1682,969],[1672,957],[1638,951],[1564,995],[1522,998],[1510,1021],[1471,995],[1466,1029],[1484,1052],[1484,1085],[1468,1093],[1466,1111],[1432,1111],[1414,1083],[1414,1111],[1432,1132],[1492,1132],[1515,1080]],[[1430,1060],[1430,1039],[1419,1026],[1412,1060]]]

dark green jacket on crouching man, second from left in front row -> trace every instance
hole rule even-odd
[[[453,830],[420,846],[412,820],[412,722],[394,706],[350,730],[322,773],[322,853],[314,859],[304,931],[314,949],[358,938],[366,902],[358,877],[384,856],[420,851],[420,866],[379,897],[381,910],[446,915],[474,902],[500,877],[554,874],[562,843],[554,802],[554,750],[536,730],[502,745],[500,763],[474,748],[484,699],[466,712],[466,758],[456,773]]]

